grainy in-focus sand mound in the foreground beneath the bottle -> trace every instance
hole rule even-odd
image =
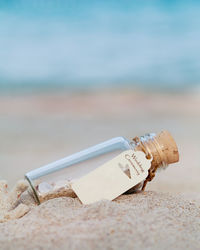
[[[200,209],[180,196],[122,195],[82,205],[57,198],[0,224],[1,249],[199,249]]]

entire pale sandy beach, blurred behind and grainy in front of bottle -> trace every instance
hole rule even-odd
[[[199,249],[200,94],[99,91],[0,97],[0,180],[115,136],[169,130],[180,162],[145,192],[82,205],[57,198],[0,223],[1,249]]]

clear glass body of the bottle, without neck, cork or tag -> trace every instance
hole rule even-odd
[[[38,203],[48,198],[71,194],[70,183],[113,159],[134,145],[124,137],[115,137],[72,154],[25,175]]]

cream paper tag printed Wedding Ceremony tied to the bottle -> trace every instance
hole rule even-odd
[[[83,204],[113,200],[145,180],[150,166],[151,160],[143,152],[127,150],[76,180],[71,187]]]

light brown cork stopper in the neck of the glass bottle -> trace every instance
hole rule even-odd
[[[160,167],[163,166],[163,163],[169,165],[179,161],[176,142],[166,130],[156,134],[153,139],[143,142],[143,145],[153,156],[152,167]],[[136,150],[143,150],[143,148],[138,144]]]

